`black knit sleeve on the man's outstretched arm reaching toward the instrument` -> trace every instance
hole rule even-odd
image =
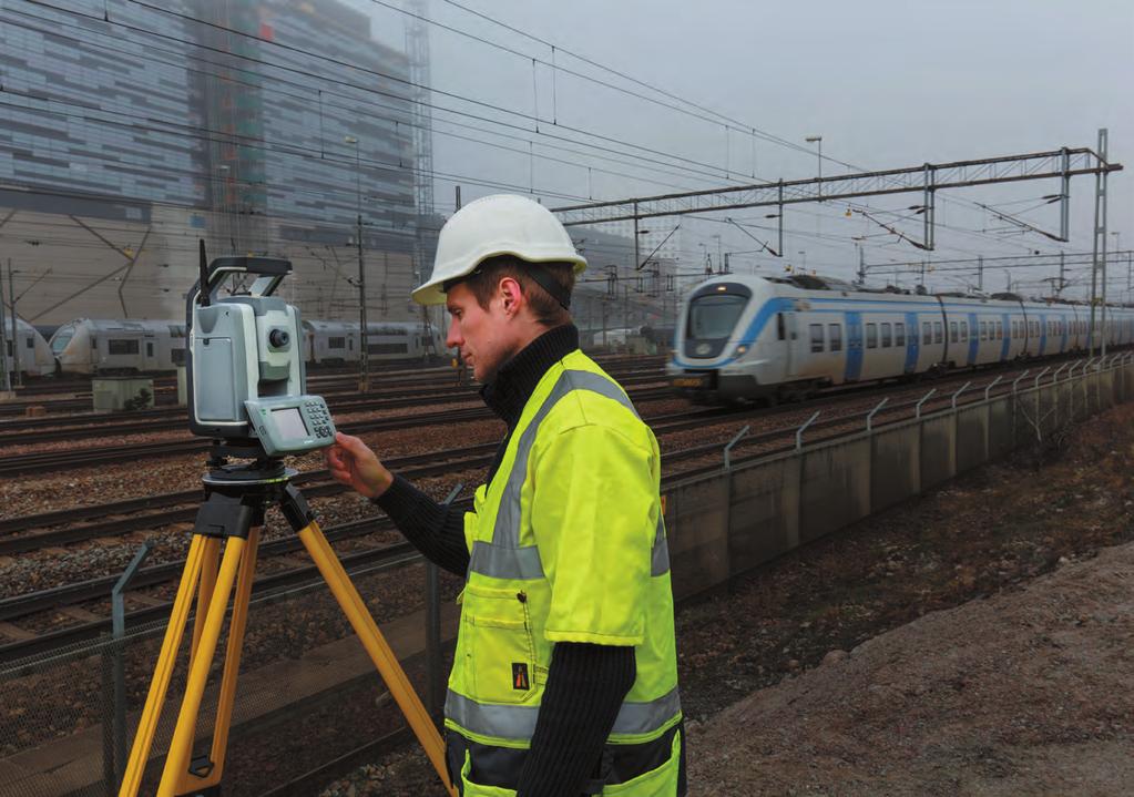
[[[465,545],[465,512],[434,501],[401,476],[373,500],[406,540],[438,567],[464,576],[468,570],[468,548]]]

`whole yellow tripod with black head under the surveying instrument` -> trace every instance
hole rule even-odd
[[[134,737],[134,746],[126,763],[119,797],[136,797],[142,786],[158,719],[166,702],[194,597],[197,611],[189,648],[188,680],[156,794],[159,797],[220,795],[225,752],[236,696],[236,679],[240,665],[240,648],[248,619],[248,599],[256,567],[260,527],[264,522],[264,509],[271,503],[279,503],[291,528],[298,533],[299,540],[331,588],[358,638],[362,639],[363,646],[397,701],[401,713],[405,714],[406,721],[425,748],[441,782],[449,789],[449,794],[456,797],[456,791],[448,785],[441,735],[378,629],[362,596],[350,583],[350,577],[331,550],[319,524],[315,523],[306,500],[290,484],[294,475],[295,470],[284,468],[280,463],[268,461],[257,463],[252,467],[223,466],[205,476],[205,502],[197,511],[193,541],[185,560],[177,597],[174,600],[174,612],[166,629],[153,680]],[[222,541],[227,541],[223,557],[220,553]],[[205,681],[217,652],[234,586],[236,594],[232,597],[232,616],[217,703],[212,747],[206,757],[191,763],[189,756],[193,752]]]

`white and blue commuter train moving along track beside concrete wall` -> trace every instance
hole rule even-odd
[[[1099,308],[1101,311],[1101,308]],[[1134,310],[1107,307],[1097,345],[1134,342]],[[866,290],[838,280],[721,275],[682,306],[667,365],[694,401],[802,398],[819,388],[1085,351],[1091,308],[990,297]]]

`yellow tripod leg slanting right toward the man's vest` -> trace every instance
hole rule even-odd
[[[327,542],[327,537],[323,536],[319,524],[311,519],[299,532],[299,540],[303,541],[307,552],[311,553],[315,567],[323,575],[323,580],[331,588],[331,593],[342,608],[342,612],[347,616],[358,638],[362,639],[366,653],[370,654],[371,660],[390,689],[390,694],[393,695],[398,707],[401,709],[406,721],[425,749],[425,754],[441,778],[441,782],[455,796],[456,791],[448,785],[449,775],[445,765],[445,744],[441,741],[441,735],[438,732],[437,726],[433,724],[433,720],[430,718],[425,706],[422,705],[421,698],[417,697],[417,693],[414,692],[413,684],[406,677],[405,670],[398,663],[398,659],[393,655],[393,651],[390,650],[386,637],[378,629],[378,624],[371,617],[370,610],[366,609],[362,596],[354,584],[350,583],[350,577],[347,575],[346,569],[338,557],[335,556],[335,551],[331,549],[330,543]]]

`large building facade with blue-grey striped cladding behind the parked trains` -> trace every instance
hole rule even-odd
[[[369,16],[335,0],[68,9],[0,8],[0,244],[20,315],[180,315],[204,238],[211,256],[290,258],[305,314],[353,319],[361,230],[371,320],[409,317],[435,222],[414,201],[409,62]]]

